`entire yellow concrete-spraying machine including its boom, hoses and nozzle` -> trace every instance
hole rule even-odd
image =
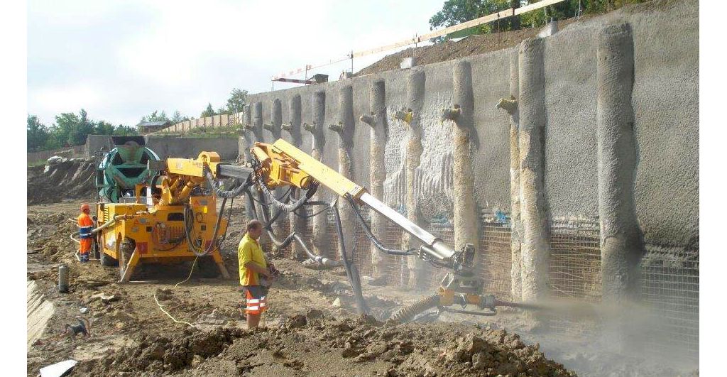
[[[451,246],[422,229],[393,208],[366,192],[366,189],[350,181],[337,171],[302,152],[284,139],[273,144],[256,142],[251,150],[252,159],[246,166],[220,163],[214,152],[202,152],[196,159],[168,158],[165,161],[148,161],[148,169],[158,173],[151,187],[137,185],[135,203],[100,203],[98,219],[103,225],[95,229],[103,245],[102,259],[119,261],[121,281],[129,280],[134,267],[140,262],[177,262],[198,256],[211,257],[224,277],[228,273],[220,257],[220,234],[224,234],[228,222],[222,218],[225,200],[237,195],[248,195],[252,214],[261,220],[263,227],[277,248],[299,243],[311,260],[323,267],[345,267],[356,298],[359,312],[366,313],[361,282],[352,256],[345,251],[345,240],[340,222],[337,200],[342,198],[353,208],[358,222],[371,242],[385,254],[416,255],[437,267],[447,270],[441,287],[429,296],[393,315],[395,320],[410,320],[426,309],[438,307],[440,312],[460,312],[472,315],[494,315],[498,306],[520,306],[499,301],[491,294],[483,293],[483,282],[473,275],[475,250],[467,245],[462,250]],[[219,179],[234,178],[236,188],[222,190]],[[322,185],[337,194],[332,203],[310,200]],[[278,198],[276,188],[287,188]],[[147,195],[142,192],[147,190]],[[305,194],[302,191],[305,190]],[[280,190],[279,190],[280,191]],[[222,210],[217,211],[217,198],[223,198]],[[305,207],[324,207],[321,211],[303,211]],[[391,222],[419,240],[421,246],[409,250],[387,248],[377,240],[361,215],[361,206],[382,214]],[[256,208],[257,207],[257,208]],[[338,232],[339,260],[317,256],[302,240],[302,235],[292,231],[281,237],[271,225],[278,217],[294,213],[296,216],[316,216],[330,211]],[[273,214],[273,216],[270,216]],[[104,264],[106,264],[104,262]],[[454,304],[462,309],[451,309]],[[465,311],[472,305],[478,310]]]

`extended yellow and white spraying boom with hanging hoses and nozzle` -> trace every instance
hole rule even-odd
[[[315,192],[318,185],[323,185],[334,191],[338,197],[343,198],[353,208],[356,218],[364,229],[364,232],[366,232],[367,237],[382,252],[398,256],[417,255],[419,258],[437,267],[443,267],[448,271],[443,277],[437,293],[407,307],[403,307],[394,313],[392,319],[400,321],[411,320],[420,312],[433,307],[438,307],[440,313],[449,311],[470,315],[495,315],[497,313],[497,307],[499,306],[529,307],[523,304],[501,301],[495,299],[494,295],[483,293],[483,282],[480,278],[475,277],[472,271],[475,256],[475,250],[472,245],[468,244],[462,250],[454,250],[446,245],[441,238],[436,238],[430,232],[414,224],[414,222],[411,222],[393,208],[386,206],[379,199],[374,198],[369,192],[366,192],[364,187],[357,185],[355,182],[351,182],[337,171],[317,161],[310,155],[303,153],[285,140],[278,139],[273,144],[256,142],[251,150],[251,155],[253,157],[252,168],[254,169],[253,180],[259,188],[257,201],[262,206],[273,206],[280,212],[297,211],[303,206],[328,206],[329,210],[333,212],[338,231],[340,259],[346,268],[359,312],[368,312],[368,308],[361,294],[361,283],[358,280],[358,272],[353,263],[350,263],[350,260],[353,258],[348,256],[345,251],[344,237],[337,206],[334,203],[307,202],[307,199],[312,195],[311,192]],[[272,191],[276,187],[292,187],[294,190],[308,190],[308,192],[306,192],[305,196],[298,195],[299,198],[297,199],[294,196],[289,196],[289,198],[284,198],[284,200],[278,200]],[[361,206],[368,206],[379,214],[382,214],[390,222],[393,222],[398,227],[401,227],[402,230],[409,232],[410,235],[419,240],[421,246],[409,250],[393,250],[383,246],[374,237],[368,224],[364,221],[364,217],[360,211]],[[271,232],[269,227],[270,222],[273,220],[267,218],[267,211],[262,211],[261,213],[263,215],[262,220],[265,221],[265,224],[268,224],[266,230],[268,230],[270,238],[278,248],[283,248],[294,240],[301,244],[311,259],[321,264],[326,264],[326,260],[310,253],[310,249],[305,246],[300,235],[297,235],[295,232],[292,232],[284,240],[276,239],[276,235]],[[330,264],[333,263],[330,262]],[[454,304],[459,304],[462,309],[453,309]],[[465,311],[464,309],[468,305],[477,308],[477,310]]]

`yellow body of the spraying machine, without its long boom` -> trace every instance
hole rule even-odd
[[[214,152],[196,159],[148,161],[148,169],[155,178],[151,185],[136,185],[132,203],[97,204],[100,226],[92,233],[101,263],[118,263],[121,282],[131,279],[138,264],[194,259],[201,266],[214,262],[228,278],[220,256],[228,220],[217,211],[217,197],[222,196],[224,209],[225,200],[238,193],[220,190],[217,179],[245,179],[252,169],[220,163]]]

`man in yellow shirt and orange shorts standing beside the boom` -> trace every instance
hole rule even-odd
[[[240,285],[246,297],[245,313],[247,328],[257,328],[262,312],[268,309],[268,289],[278,275],[273,264],[268,263],[258,239],[262,235],[262,223],[252,220],[247,223],[246,233],[237,249],[240,264]]]

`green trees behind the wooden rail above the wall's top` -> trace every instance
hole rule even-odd
[[[524,7],[539,0],[447,0],[443,7],[429,20],[430,30],[448,28],[475,18],[491,15],[505,9]],[[568,0],[542,9],[523,13],[514,17],[475,26],[463,31],[450,33],[435,42],[451,38],[461,38],[472,34],[497,33],[521,28],[538,28],[549,20],[564,20],[578,15],[592,15],[611,12],[628,4],[643,3],[649,0]]]

